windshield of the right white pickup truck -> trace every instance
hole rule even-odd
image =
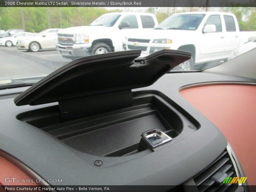
[[[164,20],[156,29],[196,30],[205,14],[172,15]]]

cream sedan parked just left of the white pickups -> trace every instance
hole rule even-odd
[[[18,41],[16,47],[32,52],[37,52],[40,49],[54,49],[59,30],[59,28],[46,29],[35,36]]]

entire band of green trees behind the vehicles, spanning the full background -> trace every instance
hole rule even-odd
[[[204,11],[204,7],[176,8],[175,12]],[[226,7],[224,12],[236,15],[241,31],[256,30],[256,7]],[[62,28],[89,25],[100,15],[120,10],[107,10],[99,7],[0,7],[1,28],[22,28],[21,12],[24,11],[25,30],[40,32],[47,28],[60,28],[60,13]],[[162,22],[173,13],[172,7],[164,10],[149,7],[146,12],[156,14],[158,22]]]

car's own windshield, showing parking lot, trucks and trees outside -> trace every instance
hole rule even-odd
[[[36,81],[81,57],[138,49],[141,57],[191,52],[170,72],[199,72],[256,48],[255,7],[10,6],[0,13],[5,34],[36,34],[0,36],[0,80]]]

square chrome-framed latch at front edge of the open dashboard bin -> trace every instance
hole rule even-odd
[[[152,129],[142,133],[141,137],[147,142],[150,148],[156,148],[172,140],[171,137],[166,135],[159,129]]]

